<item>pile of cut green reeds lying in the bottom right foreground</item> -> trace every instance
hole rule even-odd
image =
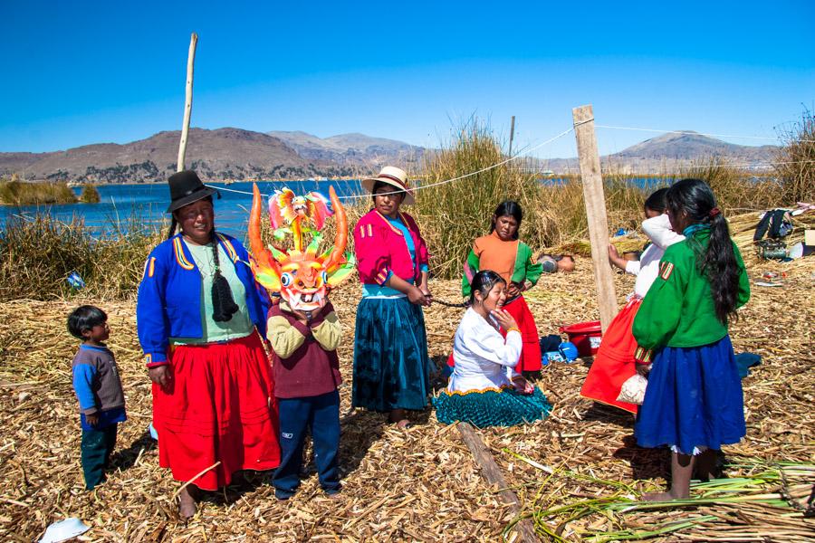
[[[741,472],[739,476],[695,481],[688,500],[650,502],[639,500],[638,481],[603,480],[544,466],[508,449],[503,452],[547,473],[532,511],[515,519],[532,519],[538,535],[547,541],[647,539],[680,530],[688,532],[688,538],[698,535],[708,541],[753,540],[758,532],[764,540],[815,537],[815,524],[805,520],[815,516],[811,504],[815,464],[811,462],[738,458],[728,471]],[[596,489],[598,497],[570,500],[561,493],[548,493],[552,487],[562,489],[562,481]]]

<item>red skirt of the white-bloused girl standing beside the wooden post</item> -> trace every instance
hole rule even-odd
[[[637,340],[631,331],[634,317],[642,300],[632,298],[603,334],[597,356],[589,368],[589,375],[580,389],[580,395],[601,404],[614,405],[630,413],[637,414],[638,405],[618,402],[622,384],[637,373],[634,351]]]

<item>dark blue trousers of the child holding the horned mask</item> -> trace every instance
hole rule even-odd
[[[323,491],[340,491],[340,392],[305,398],[277,398],[280,412],[280,467],[274,472],[274,495],[285,500],[300,486],[302,448],[312,432],[314,463]]]

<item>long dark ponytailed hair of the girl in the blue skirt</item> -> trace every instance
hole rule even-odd
[[[687,243],[696,254],[697,269],[710,281],[716,317],[727,324],[729,318],[736,317],[741,270],[733,251],[730,228],[716,206],[713,191],[701,179],[682,179],[668,189],[666,201],[671,214],[687,214],[688,224],[710,226],[706,249],[695,239],[695,234],[688,236]]]

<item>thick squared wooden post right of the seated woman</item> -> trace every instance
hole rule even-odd
[[[603,332],[617,315],[617,291],[609,263],[609,219],[606,215],[606,198],[603,195],[603,176],[600,171],[597,136],[594,133],[594,112],[591,106],[571,110],[574,119],[574,135],[577,138],[580,158],[580,178],[589,219],[591,261],[594,264],[594,281],[597,284],[597,301],[600,327]]]

